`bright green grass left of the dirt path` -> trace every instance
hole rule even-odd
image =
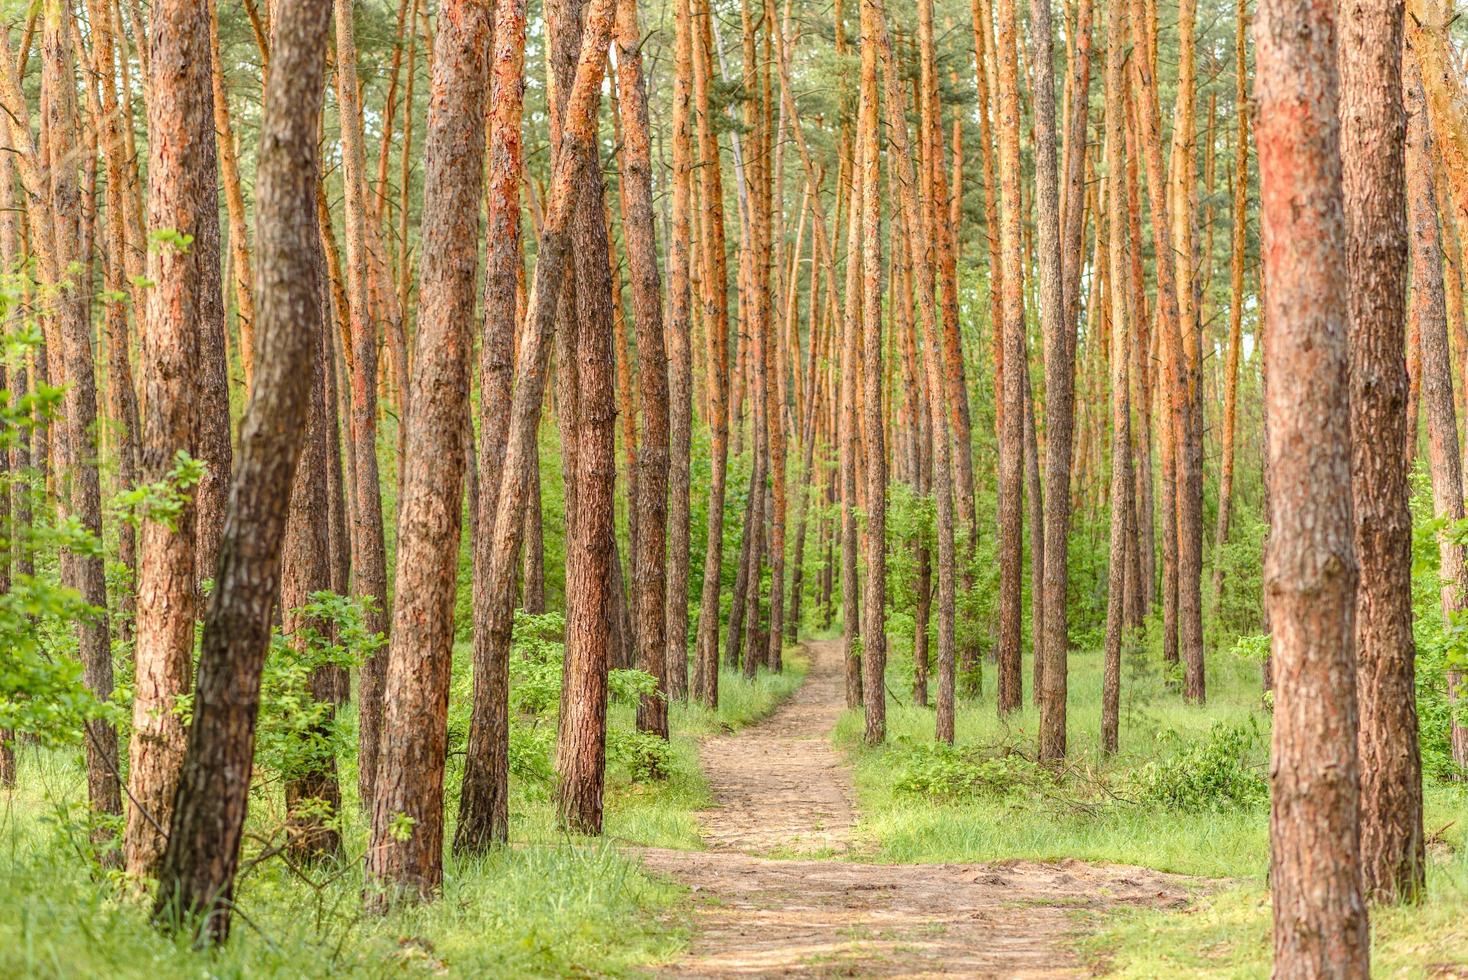
[[[697,767],[699,736],[737,729],[787,698],[806,672],[788,656],[782,675],[746,682],[721,678],[719,710],[677,706],[666,779],[636,782],[611,766],[606,836],[570,839],[555,827],[549,788],[512,780],[509,848],[483,858],[445,858],[439,901],[361,914],[361,855],[355,769],[342,763],[348,858],[292,870],[254,863],[260,839],[282,819],[279,794],[257,788],[230,942],[197,951],[147,920],[147,904],[107,877],[94,877],[76,846],[85,798],[70,751],[22,748],[19,789],[0,795],[0,976],[4,977],[401,977],[622,976],[675,957],[687,942],[686,892],[646,874],[617,844],[697,846],[693,811],[709,802]],[[349,719],[348,719],[349,720]],[[614,728],[633,710],[615,707]],[[552,726],[553,719],[543,722]],[[458,808],[459,772],[448,778],[448,827]]]

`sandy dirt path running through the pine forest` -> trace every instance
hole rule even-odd
[[[643,851],[699,902],[680,977],[1086,976],[1070,943],[1083,910],[1182,904],[1183,879],[1145,869],[862,864],[850,773],[829,744],[844,706],[840,646],[809,647],[806,684],[769,719],[709,739],[718,808],[709,851]],[[782,858],[759,857],[777,852]],[[824,858],[824,860],[819,860]]]

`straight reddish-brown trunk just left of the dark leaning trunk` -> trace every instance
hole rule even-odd
[[[150,18],[148,227],[194,235],[214,211],[208,106],[208,9],[160,0]],[[179,452],[195,446],[200,249],[148,249],[142,318],[142,458],[148,483],[167,480]],[[128,773],[126,867],[153,876],[173,813],[185,732],[176,698],[189,690],[194,653],[194,508],[175,525],[145,516],[138,543],[137,681]]]

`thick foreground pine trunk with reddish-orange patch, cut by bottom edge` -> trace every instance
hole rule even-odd
[[[1264,356],[1290,379],[1265,401],[1274,976],[1365,977],[1336,4],[1262,0],[1254,41]]]

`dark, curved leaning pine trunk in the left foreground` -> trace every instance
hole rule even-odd
[[[229,936],[250,800],[260,672],[280,581],[280,547],[321,320],[314,197],[326,0],[285,0],[273,29],[257,178],[260,298],[255,384],[241,425],[214,591],[204,616],[194,723],[179,779],[156,914]]]

